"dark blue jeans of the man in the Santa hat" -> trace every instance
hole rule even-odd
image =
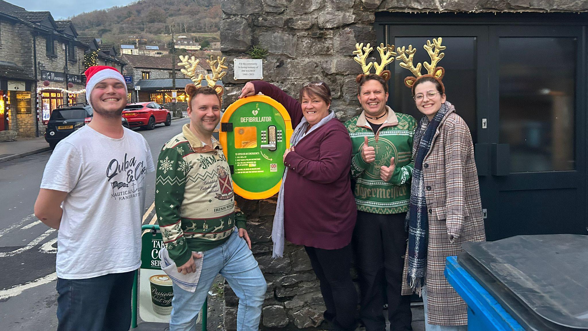
[[[57,279],[58,331],[128,331],[135,271]]]

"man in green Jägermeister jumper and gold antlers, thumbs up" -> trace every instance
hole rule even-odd
[[[353,232],[356,265],[361,290],[360,317],[366,331],[384,330],[384,289],[388,302],[390,330],[412,330],[410,297],[402,296],[403,256],[408,234],[406,211],[410,199],[412,137],[415,118],[394,112],[386,105],[390,71],[383,70],[396,55],[393,46],[378,47],[381,65],[370,74],[366,65],[372,50],[357,44],[357,57],[364,74],[358,75],[358,100],[363,111],[345,123],[353,145],[351,176],[358,207]],[[386,284],[386,285],[385,285]]]

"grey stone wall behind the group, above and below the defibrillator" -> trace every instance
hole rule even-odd
[[[263,79],[296,96],[303,82],[326,81],[331,109],[340,120],[360,111],[353,61],[356,42],[376,42],[376,12],[583,12],[587,1],[487,0],[222,0],[220,40],[227,57],[223,77],[224,108],[246,81],[233,80],[233,59],[249,58],[252,45],[265,48]],[[283,259],[272,260],[274,200],[238,199],[249,217],[253,251],[268,281],[260,329],[320,327],[322,297],[302,247],[286,246]],[[235,329],[236,298],[225,286],[225,327]],[[311,322],[312,321],[312,322]]]

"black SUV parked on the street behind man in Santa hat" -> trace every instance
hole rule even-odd
[[[90,123],[94,111],[88,104],[64,105],[51,112],[51,117],[45,130],[45,141],[49,147],[55,148],[63,138],[72,134],[75,130]],[[122,118],[122,126],[128,128],[126,118]]]

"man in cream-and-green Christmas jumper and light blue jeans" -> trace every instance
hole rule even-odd
[[[178,273],[200,272],[200,276],[195,292],[172,279],[169,327],[194,329],[220,273],[239,297],[237,330],[258,330],[266,282],[251,253],[245,220],[235,218],[229,164],[212,137],[220,121],[220,95],[211,87],[193,84],[186,86],[186,94],[190,123],[159,154],[155,208],[165,248]],[[195,259],[202,260],[195,263]],[[196,267],[200,262],[201,269]]]

